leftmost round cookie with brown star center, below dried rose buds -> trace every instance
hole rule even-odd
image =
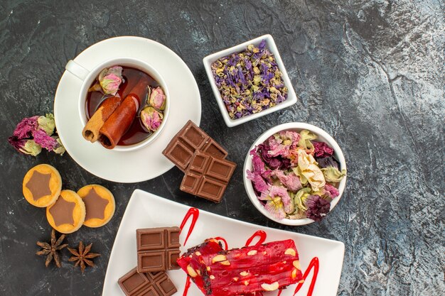
[[[23,196],[36,207],[54,204],[62,189],[62,178],[51,165],[36,165],[23,177]]]

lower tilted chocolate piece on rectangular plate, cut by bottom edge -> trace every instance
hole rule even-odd
[[[119,278],[118,283],[127,296],[171,296],[177,292],[175,285],[163,271],[138,273],[136,268],[133,268]]]

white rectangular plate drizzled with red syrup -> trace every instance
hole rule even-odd
[[[179,226],[188,209],[190,207],[183,204],[171,202],[168,199],[163,199],[148,192],[134,190],[122,217],[122,222],[109,256],[102,296],[124,296],[124,292],[117,284],[117,280],[136,266],[136,229]],[[184,231],[181,233],[181,242],[186,239],[189,224],[189,222],[186,224]],[[195,229],[188,239],[187,245],[181,247],[181,251],[186,251],[187,248],[203,243],[205,239],[215,236],[225,238],[229,248],[240,248],[258,230],[266,231],[266,242],[293,239],[299,251],[303,273],[311,259],[318,257],[320,269],[313,296],[337,295],[341,268],[343,266],[343,255],[345,253],[345,246],[340,241],[331,241],[315,236],[257,226],[200,210]],[[183,295],[186,285],[186,273],[183,270],[169,270],[167,273],[178,289],[175,296]],[[312,272],[296,296],[307,295],[311,278]],[[293,292],[294,286],[291,286],[284,290],[281,296],[292,296]],[[188,290],[188,296],[198,295],[202,295],[202,293],[192,283],[190,290]],[[275,296],[277,292],[269,292],[264,295]]]

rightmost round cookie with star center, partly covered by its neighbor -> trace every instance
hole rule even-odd
[[[112,192],[101,185],[86,185],[77,191],[85,203],[86,216],[83,223],[88,227],[100,227],[114,215],[116,204]]]

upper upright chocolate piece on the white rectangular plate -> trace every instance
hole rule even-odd
[[[137,272],[178,269],[180,232],[179,227],[137,229]]]

